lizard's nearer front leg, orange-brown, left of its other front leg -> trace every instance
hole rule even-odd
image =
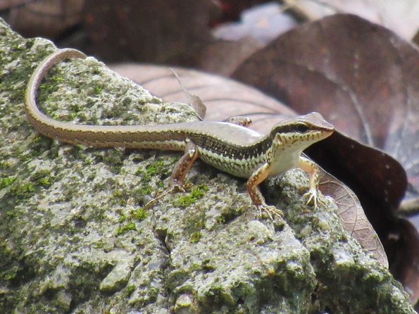
[[[272,218],[272,215],[277,215],[278,217],[282,218],[284,213],[275,206],[269,206],[265,203],[265,198],[262,196],[261,191],[259,191],[258,185],[263,182],[266,177],[268,177],[270,172],[270,164],[264,163],[261,165],[258,170],[253,172],[251,176],[249,177],[249,180],[247,180],[246,187],[247,191],[249,192],[251,201],[254,203],[256,208],[258,208],[260,215],[262,216],[262,211],[265,211],[268,213],[270,219]]]

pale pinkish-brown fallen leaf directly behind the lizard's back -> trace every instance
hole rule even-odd
[[[120,75],[134,80],[165,101],[184,103],[188,101],[169,68],[135,63],[115,64],[109,65],[109,67]],[[261,127],[270,123],[259,118],[265,117],[263,114],[295,115],[294,111],[279,101],[240,82],[195,70],[184,68],[174,68],[174,70],[188,91],[198,95],[206,104],[205,120],[221,121],[234,115],[247,115],[254,121],[250,127],[263,132],[260,130]],[[266,128],[266,130],[270,130],[270,128]]]

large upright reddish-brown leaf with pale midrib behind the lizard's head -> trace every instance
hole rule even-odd
[[[413,122],[419,113],[419,55],[389,30],[353,15],[334,15],[283,34],[233,77],[299,113],[319,111],[337,130],[384,149],[405,165],[418,187],[413,143],[419,126]]]

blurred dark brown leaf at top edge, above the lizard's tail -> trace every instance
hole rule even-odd
[[[209,0],[86,1],[91,46],[85,48],[108,61],[192,58],[196,46],[211,40],[208,24],[215,9]]]

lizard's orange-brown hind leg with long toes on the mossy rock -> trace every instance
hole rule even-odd
[[[157,196],[151,201],[149,201],[149,203],[146,203],[144,208],[149,208],[149,206],[152,206],[160,199],[163,199],[164,196],[175,191],[181,191],[182,193],[185,193],[185,177],[187,176],[187,173],[191,169],[192,165],[194,164],[194,161],[196,161],[196,158],[198,157],[199,151],[196,144],[187,139],[185,153],[179,159],[179,161],[177,161],[175,168],[173,169],[172,175],[170,175],[170,181],[168,186],[165,187],[163,191],[158,192]]]

